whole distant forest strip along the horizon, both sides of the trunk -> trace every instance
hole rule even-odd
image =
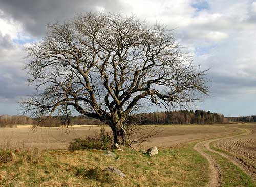
[[[0,115],[0,127],[15,127],[16,125],[34,125],[45,127],[59,127],[66,125],[63,116],[41,117],[40,119],[30,118],[21,115]],[[227,123],[252,123],[256,122],[255,116],[224,117],[219,113],[210,111],[162,111],[130,115],[128,124],[227,124]],[[87,116],[70,116],[70,125],[100,125],[103,124],[97,119]]]

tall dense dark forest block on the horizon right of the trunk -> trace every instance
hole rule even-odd
[[[136,114],[130,117],[137,124],[225,124],[228,119],[222,114],[210,111],[179,110]]]

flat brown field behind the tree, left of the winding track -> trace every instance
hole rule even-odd
[[[238,129],[207,125],[161,125],[163,131],[151,141],[140,146],[147,148],[155,145],[158,147],[176,147],[182,143],[193,140],[223,136],[239,131]],[[65,149],[68,143],[77,137],[93,136],[99,132],[100,126],[74,126],[68,133],[65,128],[38,128],[35,131],[31,126],[22,128],[0,128],[1,145],[20,145],[25,147],[38,147],[40,149]],[[150,126],[149,126],[150,128]],[[106,130],[110,131],[109,127]]]

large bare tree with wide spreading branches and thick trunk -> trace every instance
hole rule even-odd
[[[114,142],[126,144],[126,120],[139,102],[183,106],[208,93],[207,70],[160,24],[88,13],[48,28],[27,48],[29,83],[38,92],[22,101],[25,113],[69,116],[73,108],[108,124]]]

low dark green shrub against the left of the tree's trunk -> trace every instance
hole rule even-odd
[[[69,143],[69,150],[80,149],[106,149],[112,143],[111,135],[105,131],[104,128],[100,129],[100,133],[94,137],[75,138]]]

